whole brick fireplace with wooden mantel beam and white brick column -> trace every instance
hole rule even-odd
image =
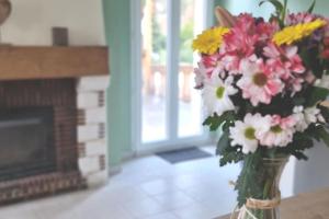
[[[0,205],[106,182],[107,68],[106,48],[0,48]]]

